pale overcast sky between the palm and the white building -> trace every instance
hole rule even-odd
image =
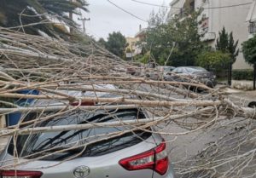
[[[140,0],[146,3],[169,5],[172,0]],[[134,37],[139,30],[139,25],[147,27],[147,23],[143,20],[148,20],[149,14],[158,11],[158,7],[149,6],[146,4],[136,3],[131,0],[111,0],[119,7],[136,14],[143,20],[138,20],[131,14],[126,14],[120,9],[108,3],[107,0],[87,0],[90,3],[88,9],[90,13],[84,13],[83,16],[90,18],[90,21],[85,22],[86,32],[98,39],[99,37],[108,37],[108,33],[121,32],[125,37]],[[81,22],[80,22],[81,23]]]

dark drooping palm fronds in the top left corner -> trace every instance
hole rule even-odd
[[[52,23],[53,20],[78,28],[68,13],[79,14],[79,9],[88,11],[87,6],[85,0],[1,0],[0,26],[14,27],[14,30],[33,35],[44,32],[50,37],[65,38],[69,35],[65,26]],[[21,28],[21,25],[24,27]]]

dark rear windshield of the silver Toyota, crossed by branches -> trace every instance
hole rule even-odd
[[[41,115],[40,115],[41,114]],[[51,113],[52,114],[52,113]],[[49,113],[30,113],[26,116],[25,121],[44,117]],[[83,123],[104,123],[119,120],[131,120],[137,118],[145,118],[142,112],[138,110],[120,110],[118,112],[84,112],[76,111],[68,113],[65,116],[56,117],[39,123],[38,127],[83,124]],[[94,128],[83,130],[70,130],[61,132],[40,133],[35,135],[19,135],[16,141],[17,154],[19,157],[38,158],[52,152],[57,152],[72,146],[84,145],[91,141],[101,140],[104,135],[127,130],[127,127],[111,127],[111,128]],[[108,140],[98,141],[86,146],[86,149],[79,147],[67,152],[55,153],[51,156],[42,158],[42,160],[62,160],[73,156],[84,150],[82,156],[100,156],[110,152],[115,152],[128,146],[133,146],[144,139],[147,139],[151,134],[143,131],[135,131],[125,135],[115,136]],[[14,155],[14,142],[9,144],[8,152]]]

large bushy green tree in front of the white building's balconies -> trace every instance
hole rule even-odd
[[[178,16],[163,22],[160,14],[151,15],[147,32],[147,49],[155,60],[164,65],[195,66],[196,56],[204,49],[198,22],[201,11],[193,12],[183,20]]]

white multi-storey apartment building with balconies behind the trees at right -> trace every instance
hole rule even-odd
[[[171,3],[171,11],[169,17],[179,15],[181,19],[184,11],[196,10],[203,8],[201,17],[203,21],[200,26],[200,32],[204,33],[203,41],[206,41],[212,47],[215,47],[218,38],[218,32],[223,27],[227,32],[233,32],[234,38],[239,40],[239,49],[241,43],[249,37],[248,14],[252,11],[253,2],[255,0],[173,0]],[[255,10],[256,17],[256,10]],[[202,19],[202,18],[200,18]],[[253,26],[256,30],[256,18]],[[243,58],[242,52],[236,59],[233,69],[251,68]]]

